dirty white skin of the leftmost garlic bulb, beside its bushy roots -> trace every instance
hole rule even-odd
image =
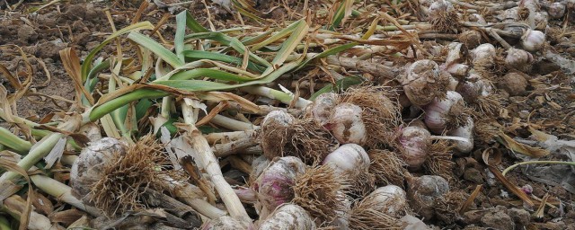
[[[90,143],[75,160],[70,171],[70,183],[72,194],[77,199],[82,199],[89,203],[92,199],[93,183],[105,176],[104,168],[114,164],[111,159],[114,156],[122,155],[126,152],[128,146],[118,139],[104,137],[100,140]]]

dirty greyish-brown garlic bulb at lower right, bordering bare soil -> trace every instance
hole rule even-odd
[[[443,195],[449,192],[449,183],[440,176],[424,175],[405,178],[410,207],[426,220],[435,217],[435,207]]]

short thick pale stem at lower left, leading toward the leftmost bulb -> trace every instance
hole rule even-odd
[[[36,185],[36,187],[57,198],[58,200],[64,201],[67,204],[74,206],[75,208],[84,210],[93,217],[102,216],[102,212],[100,210],[91,206],[86,206],[81,200],[72,196],[72,188],[66,184],[40,174],[32,175],[30,176],[30,179],[34,185]]]

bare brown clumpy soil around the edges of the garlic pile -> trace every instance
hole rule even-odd
[[[8,4],[15,2],[17,1],[8,1]],[[75,87],[66,73],[59,51],[72,48],[80,58],[84,58],[112,31],[105,12],[110,11],[115,27],[120,29],[131,23],[140,2],[65,1],[47,6],[35,13],[27,13],[42,3],[24,1],[16,11],[8,11],[4,1],[0,1],[0,65],[5,66],[13,75],[17,75],[22,82],[28,75],[31,75],[32,79],[29,95],[16,102],[18,115],[38,121],[50,113],[67,111],[70,102],[74,100]],[[169,2],[164,1],[166,4]],[[296,9],[302,8],[300,2],[303,1],[255,2],[258,10],[266,12],[265,17],[280,22],[285,18],[296,17],[296,14],[282,7],[273,6],[278,5],[278,2],[285,2],[296,4],[294,6]],[[199,22],[208,26],[208,15],[203,4],[194,4],[189,9]],[[223,7],[214,6],[211,9],[213,12],[210,21],[216,28],[225,28],[227,21],[234,20]],[[170,15],[168,22],[160,28],[165,38],[170,39],[175,28],[173,25],[175,14],[171,11],[179,12],[179,9],[150,4],[144,11],[141,21],[147,20],[156,24],[163,15]],[[565,40],[557,40],[552,43],[553,47],[548,49],[558,49],[575,57],[572,44]],[[19,48],[28,57],[31,71],[27,69]],[[111,55],[114,51],[113,46],[108,46],[100,56]],[[500,111],[505,114],[501,116],[500,122],[508,125],[517,124],[517,128],[512,130],[517,137],[527,138],[531,135],[525,126],[525,122],[529,119],[530,124],[538,130],[562,139],[574,139],[575,93],[572,91],[572,87],[575,87],[572,80],[574,76],[564,74],[558,66],[544,60],[536,61],[531,73],[537,73],[537,76],[526,75],[525,79],[520,79],[520,85],[513,85],[513,88],[509,88],[509,84],[515,84],[513,79],[503,79],[504,82],[501,84],[504,85],[501,88],[509,90],[509,93],[507,95],[502,93],[506,95],[504,98],[506,103]],[[544,77],[541,77],[542,75]],[[9,93],[15,90],[4,76],[0,77],[0,84],[3,84]],[[310,93],[302,92],[302,95]],[[2,122],[0,125],[6,126]],[[502,155],[500,168],[521,161],[509,150],[503,151]],[[453,161],[456,163],[454,170],[456,182],[451,184],[451,190],[471,194],[476,185],[482,184],[482,192],[474,200],[471,209],[451,223],[428,224],[436,226],[437,229],[575,229],[573,205],[575,194],[563,189],[562,186],[529,180],[518,169],[507,175],[509,181],[518,187],[527,185],[531,187],[531,193],[539,199],[548,194],[550,202],[555,204],[555,208],[545,208],[543,217],[533,217],[535,210],[523,208],[520,199],[511,194],[500,181],[494,179],[493,174],[482,164],[482,152],[475,151],[471,155],[456,157]],[[559,206],[559,200],[564,206]]]

